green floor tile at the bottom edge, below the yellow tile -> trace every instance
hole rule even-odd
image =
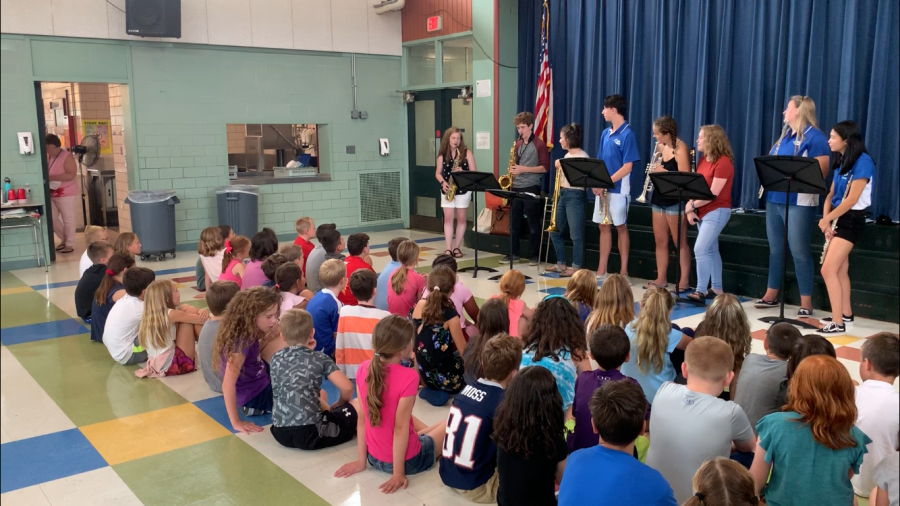
[[[144,504],[327,505],[237,436],[113,466]]]

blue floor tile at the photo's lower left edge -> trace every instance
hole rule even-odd
[[[6,443],[0,447],[0,493],[106,466],[78,429]]]

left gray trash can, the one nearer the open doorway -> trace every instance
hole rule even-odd
[[[135,190],[125,203],[131,209],[131,228],[141,240],[141,260],[166,253],[175,258],[175,190]]]

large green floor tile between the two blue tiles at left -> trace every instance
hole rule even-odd
[[[187,402],[161,381],[135,377],[137,366],[117,364],[86,334],[8,348],[78,427]]]

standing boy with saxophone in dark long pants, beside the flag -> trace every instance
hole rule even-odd
[[[541,194],[541,177],[550,170],[550,153],[547,145],[541,139],[534,138],[534,116],[530,112],[516,114],[513,123],[519,138],[516,139],[515,157],[516,164],[509,168],[509,174],[513,177],[512,190],[518,193]],[[522,227],[522,217],[528,217],[529,241],[531,242],[530,265],[538,264],[540,257],[539,246],[541,243],[541,225],[544,218],[544,206],[540,199],[513,199],[509,205],[509,255],[503,257],[503,262],[519,259],[519,231]]]

